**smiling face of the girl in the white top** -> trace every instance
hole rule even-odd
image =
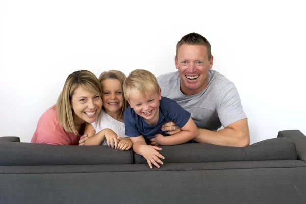
[[[102,81],[101,85],[102,101],[105,112],[107,114],[114,112],[121,114],[123,99],[120,81],[116,79],[106,79]]]

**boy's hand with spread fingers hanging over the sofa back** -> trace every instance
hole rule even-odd
[[[158,163],[164,164],[159,158],[165,159],[157,150],[162,150],[162,148],[157,146],[143,145],[142,156],[147,160],[149,167],[152,167],[152,164],[157,168],[160,168]],[[158,162],[158,163],[157,163]]]

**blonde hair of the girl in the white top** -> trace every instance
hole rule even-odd
[[[107,79],[119,80],[119,82],[121,84],[122,100],[123,100],[121,114],[120,114],[120,116],[121,116],[123,114],[123,112],[125,111],[125,109],[127,108],[127,101],[126,101],[124,93],[123,93],[123,83],[126,79],[126,75],[124,73],[122,73],[121,71],[117,71],[117,70],[109,70],[109,71],[102,72],[100,74],[100,77],[99,77],[100,83],[102,83],[104,80],[107,80]]]

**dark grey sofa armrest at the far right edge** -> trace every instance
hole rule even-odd
[[[306,136],[299,130],[279,131],[277,137],[290,138],[296,147],[297,158],[306,162]]]

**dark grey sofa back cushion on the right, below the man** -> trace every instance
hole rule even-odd
[[[160,147],[165,163],[297,159],[295,144],[289,138],[268,139],[247,147],[225,147],[199,143]],[[134,160],[136,164],[147,163],[138,154],[134,155]]]

